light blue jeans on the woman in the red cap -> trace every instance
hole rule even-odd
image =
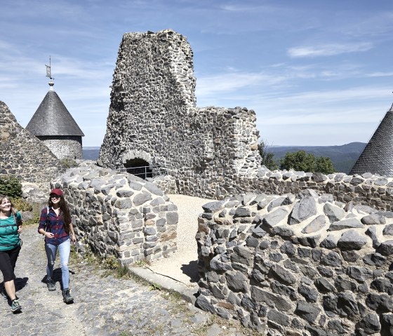
[[[71,243],[69,239],[63,241],[60,245],[45,244],[46,257],[48,258],[48,265],[46,266],[46,277],[52,278],[53,267],[55,266],[56,252],[59,249],[60,255],[60,268],[62,270],[62,289],[68,288],[69,283],[69,271],[68,271],[68,260],[69,253],[71,251]]]

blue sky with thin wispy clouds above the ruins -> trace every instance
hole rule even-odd
[[[100,146],[126,32],[171,28],[198,107],[247,107],[268,145],[367,142],[393,102],[393,1],[0,0],[0,100],[25,127],[55,91]]]

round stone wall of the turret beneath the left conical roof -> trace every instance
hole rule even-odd
[[[39,137],[39,140],[44,142],[46,147],[51,149],[53,154],[61,159],[82,159],[82,137],[81,136],[47,136]]]

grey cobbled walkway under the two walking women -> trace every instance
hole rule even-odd
[[[75,302],[67,305],[62,302],[58,282],[54,292],[49,292],[43,282],[44,238],[36,233],[36,227],[25,227],[22,239],[15,269],[22,313],[12,314],[7,301],[1,299],[1,336],[251,335],[238,323],[173,300],[163,290],[152,290],[151,285],[103,276],[105,269],[86,262],[74,262],[69,267]],[[55,271],[60,277],[58,268],[56,260]]]

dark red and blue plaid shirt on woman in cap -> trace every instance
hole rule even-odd
[[[46,220],[46,208],[42,209],[41,216],[39,217],[39,229],[44,229],[55,235],[53,238],[45,237],[45,243],[60,245],[69,239],[69,234],[65,231],[65,222],[62,219],[62,213],[60,212],[59,215],[56,215],[53,208],[49,208],[48,223]]]

